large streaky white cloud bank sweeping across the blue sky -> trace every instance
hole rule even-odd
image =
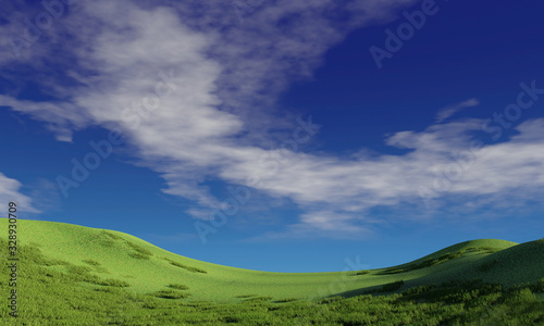
[[[0,96],[0,101],[48,123],[59,140],[70,141],[74,130],[90,125],[122,129],[140,164],[166,180],[164,192],[200,206],[219,203],[202,187],[208,178],[245,185],[248,178],[258,177],[261,184],[254,186],[255,191],[290,198],[305,211],[288,227],[292,235],[364,233],[366,217],[361,216],[367,210],[418,204],[418,187],[432,185],[434,171],[452,163],[452,153],[467,150],[481,121],[396,133],[386,143],[411,150],[404,155],[343,159],[280,153],[272,146],[287,134],[273,128],[288,129],[295,120],[279,118],[273,100],[293,79],[310,76],[324,51],[347,32],[387,20],[411,2],[361,1],[343,8],[324,0],[276,1],[264,3],[242,26],[228,1],[228,5],[200,3],[200,9],[194,2],[166,1],[168,8],[149,2],[85,2],[62,25],[63,33],[74,37],[64,50],[77,62],[66,74],[78,85],[59,87],[48,80],[44,87],[58,95],[58,101],[22,101],[13,95]],[[195,11],[201,13],[197,18]],[[335,11],[345,11],[350,18],[337,26],[325,15]],[[70,55],[55,63],[62,64]],[[37,62],[29,63],[36,68],[44,66],[39,58],[32,62]],[[161,73],[171,72],[175,91],[147,112],[138,103],[156,92],[158,83],[164,83]],[[469,100],[445,108],[437,121],[477,104]],[[135,113],[138,110],[143,113]],[[544,160],[536,150],[543,146],[539,135],[544,125],[527,122],[519,131],[508,142],[479,151],[478,160],[448,193],[508,193],[515,187],[530,191],[544,187]],[[270,164],[261,164],[269,155],[282,158],[277,173],[270,173]],[[191,211],[203,218],[201,209]]]

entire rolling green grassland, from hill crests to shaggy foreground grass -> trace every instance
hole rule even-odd
[[[336,273],[234,268],[41,221],[17,221],[17,246],[18,317],[8,315],[4,268],[1,325],[544,325],[544,240],[466,241]]]

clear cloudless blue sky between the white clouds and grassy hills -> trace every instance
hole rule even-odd
[[[384,29],[395,30],[404,23],[400,14],[387,25],[349,34],[326,53],[311,80],[296,82],[279,99],[280,110],[311,114],[313,122],[323,126],[309,147],[312,151],[338,156],[362,149],[376,155],[403,154],[405,150],[384,143],[386,135],[423,130],[434,123],[441,108],[475,98],[481,104],[455,118],[491,118],[516,100],[521,82],[536,80],[544,88],[544,3],[437,3],[438,13],[428,17],[423,28],[392,59],[385,59],[382,70],[369,48],[384,48]],[[27,80],[23,75],[21,79]],[[13,80],[2,78],[0,93],[11,92],[13,85]],[[48,99],[35,85],[27,83],[24,87],[20,99]],[[539,103],[523,111],[520,122],[542,116],[544,104]],[[387,218],[373,226],[374,233],[364,239],[260,241],[256,237],[281,231],[300,212],[287,199],[255,193],[259,202],[277,201],[282,205],[261,213],[248,205],[202,244],[194,220],[183,212],[190,202],[161,192],[166,187],[164,180],[146,167],[131,164],[135,159],[125,145],[115,147],[100,168],[91,172],[81,187],[70,190],[67,199],[58,189],[40,184],[42,179],[54,184],[58,175],[69,175],[71,160],[83,160],[90,140],[107,137],[102,128],[87,128],[75,133],[72,143],[60,142],[45,124],[0,106],[0,172],[20,180],[23,193],[38,193],[36,206],[45,208],[44,213],[28,214],[27,218],[121,230],[189,258],[273,272],[342,271],[345,259],[354,261],[357,255],[368,267],[378,268],[470,239],[521,242],[542,238],[542,210],[535,203],[514,215],[489,218],[482,212],[481,218],[470,221],[460,215],[429,222],[396,220],[399,212],[395,209],[375,209],[376,217]],[[220,198],[227,196],[225,186],[210,183]]]

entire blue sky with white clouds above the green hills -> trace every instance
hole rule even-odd
[[[273,272],[542,238],[543,9],[12,1],[0,201]]]

